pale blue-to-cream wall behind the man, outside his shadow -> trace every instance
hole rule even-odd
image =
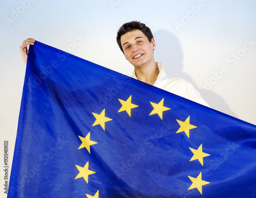
[[[193,83],[211,108],[256,124],[254,0],[20,0],[2,1],[0,10],[2,168],[4,140],[12,162],[26,69],[19,46],[29,37],[130,75],[133,66],[119,50],[116,33],[125,22],[141,21],[153,32],[155,60],[168,76]]]

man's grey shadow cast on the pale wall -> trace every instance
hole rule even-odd
[[[153,35],[156,41],[154,57],[156,61],[163,64],[166,75],[185,79],[199,90],[193,79],[187,73],[182,71],[183,53],[178,38],[165,30],[159,30],[153,33]],[[236,114],[229,109],[228,104],[220,95],[205,89],[200,89],[199,91],[212,109],[237,117]]]

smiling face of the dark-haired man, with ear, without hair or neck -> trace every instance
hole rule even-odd
[[[123,53],[134,67],[143,67],[154,62],[153,50],[156,47],[154,38],[149,42],[147,37],[140,30],[127,32],[121,36]]]

